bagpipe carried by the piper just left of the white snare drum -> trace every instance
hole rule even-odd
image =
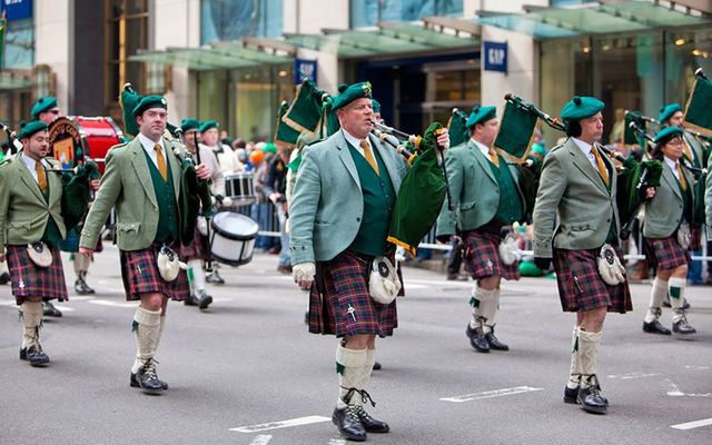
[[[141,96],[134,89],[130,82],[123,85],[119,96],[119,105],[123,115],[125,135],[136,137],[139,128],[134,117],[134,108],[141,100]],[[169,125],[170,136],[175,137],[182,147],[186,140],[180,127]],[[200,164],[200,149],[197,139],[196,154],[198,165]],[[212,216],[212,196],[210,195],[210,180],[199,179],[196,174],[196,162],[180,148],[174,149],[174,156],[180,164],[180,191],[179,191],[179,215],[180,215],[180,241],[188,246],[195,239],[195,231],[198,224],[198,216],[210,218]],[[208,221],[209,222],[209,221]],[[210,225],[208,224],[208,227]]]

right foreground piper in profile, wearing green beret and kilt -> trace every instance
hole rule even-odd
[[[534,207],[535,264],[546,270],[553,257],[562,308],[576,313],[564,402],[590,413],[605,413],[609,406],[596,376],[606,312],[632,309],[620,265],[616,170],[596,146],[603,108],[592,97],[566,102],[561,117],[568,138],[544,158]],[[654,189],[647,189],[646,197],[652,195]],[[610,263],[599,263],[600,254]]]

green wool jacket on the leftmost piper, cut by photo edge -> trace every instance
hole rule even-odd
[[[46,158],[51,168],[61,165]],[[67,236],[61,217],[62,181],[59,174],[48,172],[49,196],[46,199],[20,155],[0,166],[0,248],[42,240],[50,218],[61,238]]]

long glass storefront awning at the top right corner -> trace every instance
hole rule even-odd
[[[478,24],[535,39],[712,24],[706,12],[659,0],[603,0],[575,7],[524,7],[523,13],[481,12]]]

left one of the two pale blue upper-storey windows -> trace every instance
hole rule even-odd
[[[241,37],[278,37],[283,31],[281,0],[202,0],[200,42]]]

